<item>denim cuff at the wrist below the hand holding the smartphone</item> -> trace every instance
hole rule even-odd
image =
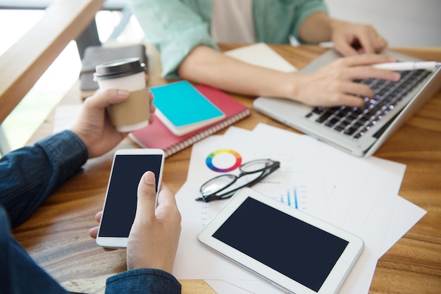
[[[106,281],[106,294],[180,294],[178,280],[159,269],[133,269],[111,276]]]

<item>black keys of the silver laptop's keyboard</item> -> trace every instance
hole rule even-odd
[[[398,82],[379,79],[359,80],[358,82],[368,85],[375,93],[372,99],[368,97],[364,99],[364,106],[316,107],[311,113],[306,114],[306,117],[316,114],[317,123],[333,128],[348,137],[359,139],[429,74],[430,71],[425,70],[402,71]]]

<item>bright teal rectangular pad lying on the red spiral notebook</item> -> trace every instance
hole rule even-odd
[[[186,80],[151,87],[150,90],[154,95],[154,106],[177,128],[225,117],[220,109]]]

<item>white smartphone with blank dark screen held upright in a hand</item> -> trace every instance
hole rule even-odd
[[[120,149],[115,152],[99,223],[97,245],[127,247],[136,214],[139,180],[146,171],[155,174],[157,202],[163,164],[164,152],[161,149]]]

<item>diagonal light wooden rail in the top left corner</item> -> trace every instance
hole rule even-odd
[[[68,43],[85,30],[103,3],[104,0],[54,1],[42,19],[1,54],[0,123]]]

